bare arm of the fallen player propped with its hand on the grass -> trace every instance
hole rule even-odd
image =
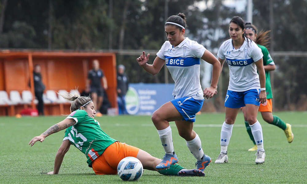
[[[65,154],[70,148],[71,143],[69,140],[63,140],[59,150],[56,152],[56,158],[54,159],[54,169],[47,174],[59,174],[60,167],[62,165]]]

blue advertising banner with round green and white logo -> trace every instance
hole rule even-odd
[[[161,105],[174,98],[174,84],[131,83],[126,94],[129,114],[151,115]]]

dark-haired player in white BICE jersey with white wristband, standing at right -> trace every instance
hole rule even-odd
[[[227,60],[229,85],[224,104],[225,121],[222,125],[220,137],[221,152],[215,163],[226,163],[228,161],[227,146],[232,127],[239,109],[245,106],[247,121],[258,147],[255,163],[262,164],[265,159],[265,151],[262,127],[257,120],[257,112],[260,103],[266,102],[263,54],[257,44],[246,37],[244,21],[241,17],[231,19],[229,35],[231,39],[223,42],[217,54],[221,62],[221,71],[225,60]]]

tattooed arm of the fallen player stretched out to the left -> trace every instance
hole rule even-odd
[[[76,121],[74,119],[64,119],[63,121],[53,125],[52,127],[48,128],[44,133],[42,133],[39,136],[33,137],[33,139],[30,140],[29,145],[33,146],[36,141],[43,142],[45,138],[53,133],[59,132],[65,128],[68,128],[72,125],[74,125]]]

